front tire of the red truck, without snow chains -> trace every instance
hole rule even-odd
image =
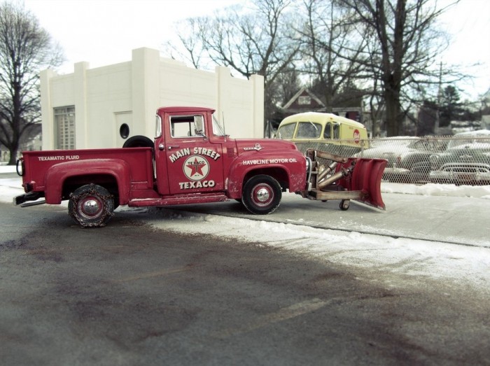
[[[255,215],[274,212],[281,203],[281,185],[272,176],[258,175],[248,179],[241,195],[241,203]]]

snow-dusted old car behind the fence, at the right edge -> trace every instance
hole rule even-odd
[[[443,153],[430,156],[430,166],[433,183],[490,184],[490,130],[455,134]]]

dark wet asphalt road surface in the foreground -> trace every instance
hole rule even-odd
[[[64,207],[0,204],[2,365],[490,365],[477,289],[147,215],[81,229]]]

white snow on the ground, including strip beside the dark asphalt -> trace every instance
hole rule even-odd
[[[13,171],[13,167],[0,166],[0,173],[10,171]],[[439,195],[447,196],[448,199],[450,197],[490,199],[488,185],[456,187],[382,183],[381,191],[406,195]],[[12,202],[13,196],[20,194],[22,194],[20,178],[0,178],[1,202]],[[486,293],[490,291],[489,248],[406,238],[395,239],[359,232],[322,230],[307,225],[269,223],[263,220],[189,213],[173,209],[130,209],[123,206],[118,210],[134,212],[136,215],[139,212],[149,212],[150,215],[146,216],[148,224],[162,230],[186,234],[211,234],[223,239],[248,241],[260,246],[279,247],[295,253],[305,253],[339,265],[366,270],[382,269],[385,272],[408,276],[428,276],[449,283],[475,286]],[[387,286],[395,285],[387,283]]]

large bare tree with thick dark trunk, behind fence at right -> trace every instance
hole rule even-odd
[[[356,11],[366,36],[372,35],[370,66],[379,75],[386,132],[396,136],[423,85],[437,84],[437,55],[447,47],[435,22],[445,8],[433,0],[341,0]]]

